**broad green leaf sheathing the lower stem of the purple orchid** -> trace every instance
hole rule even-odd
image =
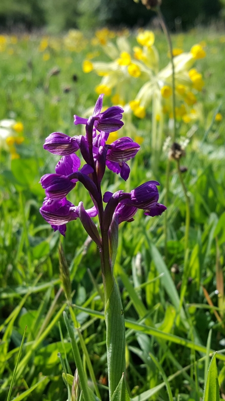
[[[120,294],[114,280],[105,308],[109,399],[125,372],[125,324]]]

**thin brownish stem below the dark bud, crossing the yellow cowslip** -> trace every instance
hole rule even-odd
[[[167,28],[166,22],[164,20],[163,14],[161,12],[160,7],[157,8],[157,14],[160,20],[160,24],[162,26],[163,32],[167,38],[168,45],[169,45],[169,51],[170,51],[170,56],[171,56],[171,64],[172,64],[172,97],[173,97],[173,117],[174,117],[174,130],[173,130],[173,136],[172,140],[175,142],[176,139],[176,94],[175,94],[175,67],[174,67],[174,55],[173,55],[173,46],[172,46],[172,41],[170,37],[169,30]]]

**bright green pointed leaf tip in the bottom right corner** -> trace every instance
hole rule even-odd
[[[203,401],[219,401],[219,382],[216,367],[216,353],[209,365]]]

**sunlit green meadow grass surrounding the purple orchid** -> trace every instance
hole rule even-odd
[[[204,40],[207,52],[206,58],[196,63],[205,81],[205,89],[199,94],[203,121],[196,123],[197,130],[182,160],[188,167],[183,178],[190,198],[186,258],[185,197],[173,161],[167,203],[167,257],[164,216],[144,217],[139,210],[135,220],[123,223],[119,231],[114,269],[126,321],[127,388],[135,400],[167,401],[172,394],[179,401],[198,401],[203,396],[212,351],[218,351],[218,374],[224,376],[225,356],[219,351],[225,348],[221,293],[225,256],[225,119],[213,122],[219,105],[225,116],[225,42],[221,36],[209,29],[172,37],[174,47],[180,47],[183,40],[185,51]],[[74,335],[81,355],[82,350],[86,352],[82,357],[84,375],[90,383],[96,379],[99,395],[106,401],[106,332],[98,250],[87,240],[79,220],[67,224],[66,238],[61,241],[72,280],[71,318],[60,286],[59,234],[53,233],[39,213],[44,198],[40,177],[53,172],[58,160],[43,150],[44,139],[56,131],[71,136],[81,134],[81,129],[73,125],[73,114],[82,115],[94,105],[94,88],[100,77],[82,72],[82,61],[93,50],[91,44],[80,53],[69,52],[62,38],[56,38],[60,49],[46,50],[50,59],[43,61],[43,53],[38,50],[40,40],[34,35],[21,37],[18,43],[8,44],[0,58],[0,120],[21,121],[25,137],[23,144],[17,146],[19,159],[11,160],[4,149],[0,155],[0,398],[8,399],[15,376],[11,399],[67,400],[70,384],[66,384],[65,375],[63,381],[62,373],[65,368],[66,373],[74,375],[76,366],[63,320],[65,310],[70,323],[73,318],[80,326],[80,334],[74,331]],[[135,44],[134,37],[128,40]],[[167,45],[160,33],[156,35],[156,47],[163,67],[168,63]],[[98,60],[102,59],[107,60],[100,53]],[[56,66],[59,74],[49,77]],[[77,81],[72,78],[75,74]],[[68,86],[70,90],[65,92]],[[104,104],[111,105],[110,97],[105,98]],[[155,171],[149,135],[151,113],[144,120],[134,118],[133,123],[144,142],[130,163],[130,179],[122,183],[107,171],[104,189],[110,186],[111,191],[129,191],[144,181],[157,179],[161,183],[160,202],[164,203],[167,157],[162,152]],[[179,123],[179,135],[185,136],[190,128]],[[165,125],[165,137],[167,134]],[[79,184],[69,200],[76,205],[81,200],[86,207],[91,205]],[[95,280],[90,278],[88,268]],[[209,299],[215,308],[208,306]],[[165,377],[168,381],[164,382]],[[95,386],[91,385],[93,391]],[[220,389],[225,393],[223,384]],[[143,392],[145,395],[138,398]]]

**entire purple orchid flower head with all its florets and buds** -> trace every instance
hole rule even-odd
[[[139,145],[129,137],[117,139],[110,145],[107,140],[110,132],[119,130],[123,126],[123,109],[118,106],[109,107],[101,112],[103,95],[100,95],[92,116],[84,119],[74,116],[74,124],[84,124],[86,135],[69,137],[54,132],[45,140],[44,149],[58,154],[61,159],[55,167],[55,174],[45,174],[41,178],[41,185],[45,190],[46,198],[40,212],[54,230],[65,235],[66,223],[80,218],[86,231],[93,240],[101,246],[98,230],[91,217],[99,216],[100,227],[108,232],[112,219],[117,223],[132,221],[137,209],[143,209],[149,216],[160,215],[166,207],[158,203],[159,192],[156,181],[149,181],[132,190],[130,193],[117,191],[112,194],[106,192],[102,197],[101,181],[106,166],[116,174],[120,174],[125,181],[129,177],[130,168],[126,163],[139,150]],[[80,152],[86,164],[80,168],[81,160],[75,154]],[[85,210],[83,203],[74,206],[66,199],[66,195],[80,181],[89,191],[94,206]],[[103,202],[107,202],[105,210]]]

